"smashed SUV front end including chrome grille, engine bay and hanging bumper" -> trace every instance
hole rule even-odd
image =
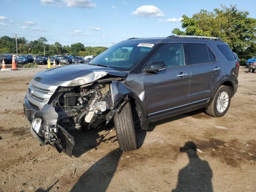
[[[30,82],[24,112],[32,134],[42,145],[51,144],[58,152],[72,156],[75,139],[70,130],[95,128],[112,120],[118,108],[112,91],[126,76],[94,74],[98,77],[93,76],[87,84],[83,78],[76,78],[68,86],[50,86],[36,81],[39,75]]]

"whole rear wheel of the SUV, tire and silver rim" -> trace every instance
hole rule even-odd
[[[231,101],[231,91],[227,86],[220,86],[214,95],[214,98],[206,108],[206,113],[214,117],[222,117],[228,111]]]

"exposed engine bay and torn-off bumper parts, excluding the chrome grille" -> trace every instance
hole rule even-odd
[[[42,145],[51,144],[58,152],[71,156],[75,140],[66,127],[86,130],[108,124],[116,107],[122,106],[111,102],[111,83],[123,79],[104,78],[81,86],[58,87],[49,103],[34,113],[32,133]]]

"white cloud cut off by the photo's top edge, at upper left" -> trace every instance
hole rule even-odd
[[[41,3],[46,6],[58,7],[78,7],[78,8],[93,8],[96,4],[91,3],[90,0],[41,0]]]

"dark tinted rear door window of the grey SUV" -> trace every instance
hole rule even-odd
[[[210,62],[206,44],[183,44],[183,46],[186,65]]]

